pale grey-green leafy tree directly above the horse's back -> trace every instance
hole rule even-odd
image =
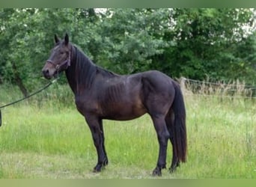
[[[150,57],[161,54],[169,43],[162,40],[165,16],[162,9],[107,10],[98,29],[99,63],[122,74],[148,70]]]

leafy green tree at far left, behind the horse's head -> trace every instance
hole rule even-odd
[[[85,12],[95,16],[91,9],[2,9],[1,80],[18,85],[24,96],[45,82],[41,69],[54,44],[54,34],[68,32],[74,43],[85,44],[82,32],[90,26],[85,24]]]

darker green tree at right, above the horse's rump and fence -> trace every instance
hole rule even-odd
[[[156,68],[177,77],[234,79],[228,73],[231,62],[240,61],[234,46],[246,40],[244,28],[252,28],[252,10],[174,9],[170,16],[174,26],[164,40],[176,44],[156,56],[154,61],[168,61]]]

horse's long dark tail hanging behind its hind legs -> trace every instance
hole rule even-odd
[[[173,147],[177,153],[177,158],[181,162],[186,162],[186,109],[183,99],[183,94],[180,86],[173,82],[175,89],[174,102],[171,106],[174,112],[174,126],[173,126]]]

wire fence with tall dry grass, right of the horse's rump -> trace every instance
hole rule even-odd
[[[239,80],[233,82],[209,82],[180,78],[180,85],[186,95],[217,96],[222,98],[256,99],[256,86],[246,85]]]

